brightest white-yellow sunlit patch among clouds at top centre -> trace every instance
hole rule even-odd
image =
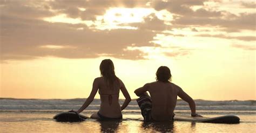
[[[84,11],[86,9],[79,8]],[[106,11],[103,16],[97,16],[95,21],[82,20],[81,18],[69,18],[66,14],[59,14],[58,16],[43,18],[44,21],[51,23],[69,23],[69,24],[85,24],[90,28],[96,28],[100,30],[105,29],[137,29],[127,24],[129,23],[141,23],[144,21],[144,17],[154,12],[154,9],[146,8],[111,8]],[[161,16],[161,13],[157,14],[160,18],[170,19],[167,16]],[[78,28],[78,30],[81,28]]]

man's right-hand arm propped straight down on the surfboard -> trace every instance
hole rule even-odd
[[[198,115],[196,113],[196,104],[194,103],[194,100],[186,92],[184,92],[180,87],[179,87],[178,96],[190,105],[191,116],[193,116],[193,117],[200,116],[201,117],[201,115]]]

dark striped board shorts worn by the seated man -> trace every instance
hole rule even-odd
[[[137,103],[139,105],[139,108],[142,112],[142,116],[144,118],[144,121],[149,122],[149,121],[154,121],[152,116],[151,116],[151,109],[152,109],[152,100],[149,95],[143,95],[142,97],[139,97],[137,99]],[[174,113],[172,120],[174,118]]]

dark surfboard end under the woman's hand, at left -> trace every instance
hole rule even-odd
[[[86,120],[88,117],[82,114],[77,114],[76,112],[62,112],[53,116],[58,122],[80,122]]]

